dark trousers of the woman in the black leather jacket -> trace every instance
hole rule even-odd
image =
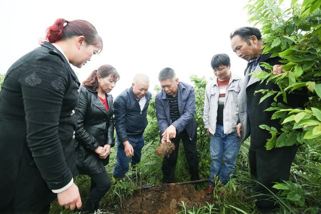
[[[85,206],[81,208],[82,212],[93,213],[99,208],[101,198],[109,190],[111,182],[107,172],[103,171],[99,174],[90,176],[90,194]]]

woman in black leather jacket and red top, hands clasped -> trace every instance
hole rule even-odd
[[[105,171],[110,148],[114,146],[113,100],[108,94],[115,86],[119,74],[111,65],[93,70],[79,88],[76,153],[80,174],[90,176],[90,196],[81,211],[94,212],[100,199],[110,188],[110,178]]]

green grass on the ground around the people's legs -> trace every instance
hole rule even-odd
[[[101,210],[98,213],[115,213],[122,206],[124,198],[133,194],[134,190],[145,184],[158,184],[162,178],[162,159],[155,156],[153,151],[158,146],[158,142],[146,142],[142,150],[141,162],[137,168],[126,174],[120,182],[114,184],[101,200]],[[248,163],[249,142],[242,144],[236,162],[234,178],[225,186],[217,187],[213,197],[215,204],[208,203],[206,206],[193,206],[187,210],[186,203],[181,203],[180,213],[257,213],[255,209],[254,191],[255,181],[249,173]],[[301,146],[292,164],[290,181],[283,183],[288,189],[284,189],[278,195],[271,194],[279,205],[276,213],[320,213],[321,208],[321,145]],[[207,162],[208,155],[200,154],[204,162]],[[113,183],[113,168],[116,163],[116,148],[111,149],[110,162],[106,166],[106,171]],[[209,168],[203,167],[200,171],[201,179],[207,178]],[[188,165],[185,160],[184,149],[180,145],[180,153],[176,168],[176,180],[189,180]],[[86,175],[79,175],[75,178],[82,201],[89,193],[90,180]],[[207,184],[204,183],[201,188]],[[286,188],[287,188],[286,187]],[[222,196],[221,192],[224,192]],[[299,201],[303,201],[303,203]],[[191,206],[188,206],[191,207]],[[54,201],[51,205],[50,213],[78,213],[66,210]]]

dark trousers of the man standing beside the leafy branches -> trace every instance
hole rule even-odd
[[[257,196],[256,207],[259,211],[270,211],[275,205],[270,196],[264,195],[271,192],[276,194],[279,190],[272,188],[274,182],[288,180],[290,168],[297,146],[265,148],[249,150],[249,162],[251,175],[257,179],[256,191],[262,195]],[[271,191],[271,192],[270,192]]]

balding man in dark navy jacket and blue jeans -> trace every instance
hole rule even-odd
[[[117,134],[117,163],[114,177],[122,178],[131,166],[140,161],[147,126],[147,109],[151,99],[148,92],[149,78],[144,74],[134,77],[132,86],[121,92],[114,101]]]

